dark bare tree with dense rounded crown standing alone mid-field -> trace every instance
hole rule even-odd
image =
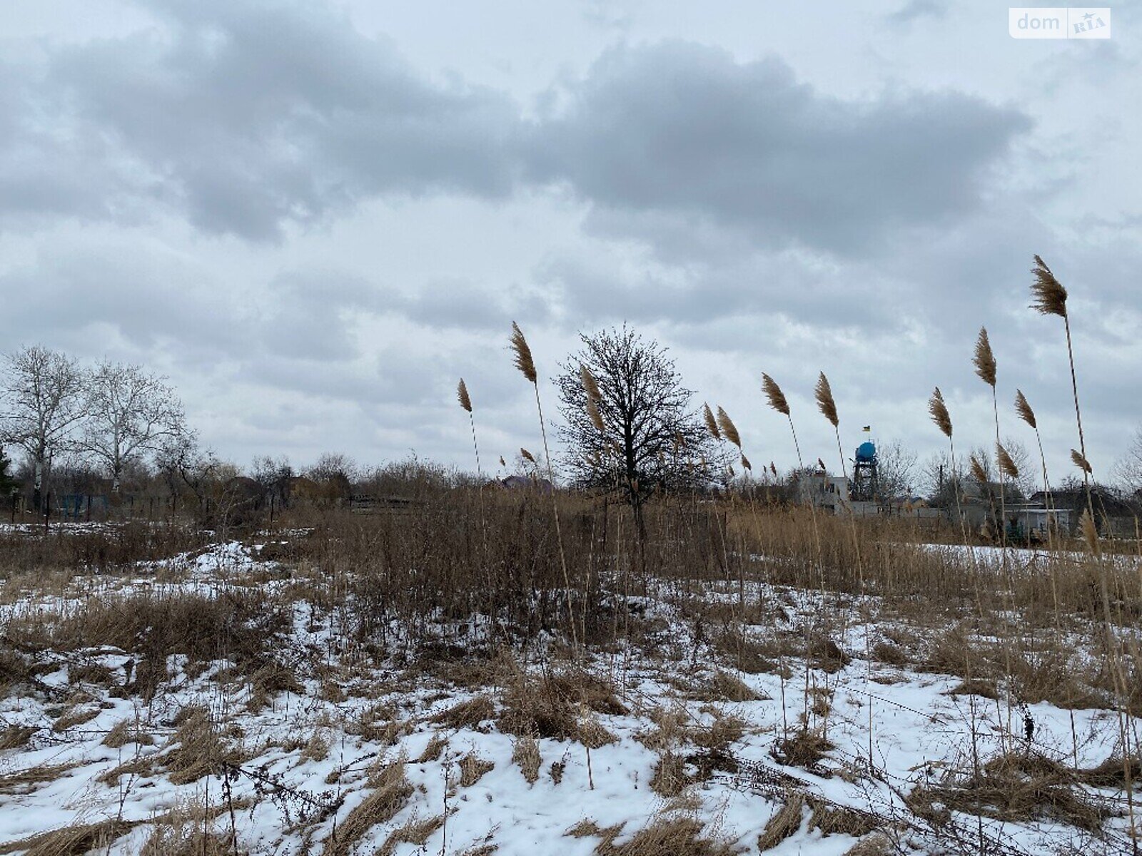
[[[564,465],[580,487],[620,493],[641,526],[650,496],[707,484],[725,454],[691,407],[693,393],[658,342],[626,326],[579,338],[582,348],[555,379]],[[598,387],[600,421],[588,412],[584,368]]]

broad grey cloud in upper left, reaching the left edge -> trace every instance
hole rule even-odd
[[[160,205],[262,240],[378,194],[512,188],[517,108],[499,92],[428,82],[314,5],[152,10],[162,30],[2,72],[9,211],[137,219]]]

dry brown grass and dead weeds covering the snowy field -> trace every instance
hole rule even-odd
[[[324,611],[321,614],[337,611],[341,622],[343,636],[335,644],[348,665],[329,667],[327,663],[327,671],[320,672],[320,685],[324,687],[322,695],[329,701],[389,692],[391,687],[377,689],[377,680],[361,676],[380,663],[386,663],[387,669],[391,662],[407,667],[405,671],[395,670],[394,681],[408,683],[427,672],[456,679],[455,683],[475,692],[472,697],[427,720],[423,718],[424,708],[389,706],[381,702],[365,708],[356,705],[354,710],[359,714],[346,724],[346,732],[359,736],[361,743],[392,745],[410,729],[424,727],[426,722],[455,730],[496,728],[515,737],[512,760],[526,782],[536,784],[541,774],[546,774],[554,785],[558,785],[566,770],[568,757],[552,759],[548,756],[545,767],[539,741],[574,741],[597,749],[616,740],[610,728],[618,726],[609,727],[608,718],[621,717],[628,712],[627,705],[637,706],[641,702],[633,700],[634,696],[622,696],[620,701],[617,685],[577,664],[568,651],[561,651],[557,645],[553,646],[554,654],[538,668],[525,668],[502,653],[523,649],[532,656],[528,645],[541,638],[540,635],[557,637],[561,628],[566,627],[566,608],[561,603],[565,587],[562,573],[557,573],[558,557],[550,546],[549,517],[537,515],[533,508],[510,496],[490,500],[489,549],[494,560],[490,562],[492,570],[476,567],[469,554],[472,534],[477,531],[474,528],[477,507],[473,496],[464,493],[431,495],[423,507],[400,518],[362,522],[339,514],[328,515],[319,523],[319,534],[290,549],[295,560],[313,563],[307,566],[309,571],[299,571],[290,581],[291,588],[274,596],[252,587],[223,588],[219,595],[209,597],[160,590],[126,595],[105,592],[82,603],[17,613],[5,627],[5,637],[0,640],[3,643],[0,647],[0,692],[15,688],[46,694],[48,689],[42,677],[65,664],[70,686],[59,683],[63,691],[56,691],[53,698],[56,704],[50,708],[59,712],[53,726],[58,735],[79,729],[97,716],[99,710],[90,700],[98,698],[104,691],[123,697],[153,697],[169,685],[172,676],[167,673],[168,661],[179,655],[185,657],[187,675],[208,673],[214,676],[211,680],[246,686],[250,710],[260,711],[283,693],[304,694],[307,686],[316,683],[313,678],[319,671],[314,661],[336,656],[327,651],[306,661],[292,654],[288,656],[275,645],[291,625],[293,600],[304,597],[315,609]],[[650,646],[648,649],[669,655],[666,671],[675,670],[681,675],[694,667],[685,677],[671,678],[679,695],[724,706],[724,710],[715,710],[713,704],[702,708],[706,713],[715,711],[711,721],[703,720],[709,725],[698,725],[693,716],[681,710],[650,712],[656,725],[637,738],[659,756],[649,784],[665,799],[684,797],[691,784],[708,781],[715,772],[734,769],[733,745],[745,737],[748,726],[746,719],[727,711],[756,710],[748,705],[764,698],[751,689],[747,683],[749,678],[743,680],[739,676],[780,671],[789,680],[794,672],[782,663],[798,659],[799,668],[806,656],[814,670],[837,675],[845,669],[851,672],[853,657],[864,656],[860,651],[843,649],[837,641],[843,639],[837,619],[853,603],[858,581],[847,564],[854,556],[853,548],[846,546],[852,543],[852,538],[847,530],[836,528],[835,522],[819,522],[827,547],[823,568],[817,575],[810,528],[796,512],[766,508],[751,519],[753,516],[742,515],[740,508],[723,509],[727,547],[718,549],[713,539],[706,543],[701,538],[687,540],[685,536],[670,541],[678,543],[677,556],[651,547],[644,557],[645,568],[622,580],[632,596],[620,598],[606,590],[610,583],[600,582],[604,578],[598,575],[598,568],[609,570],[610,565],[604,563],[613,562],[622,549],[629,550],[633,542],[606,541],[598,554],[592,552],[596,549],[593,544],[600,543],[597,533],[604,522],[612,527],[608,538],[614,538],[613,509],[612,517],[604,520],[598,509],[581,498],[558,496],[556,502],[561,514],[568,512],[566,519],[574,520],[574,526],[569,526],[565,533],[571,588],[576,589],[584,581],[595,587],[584,584],[572,592],[581,638],[597,646],[590,651],[617,652],[622,651],[624,645],[637,649],[637,645],[645,641]],[[718,508],[713,502],[709,506]],[[453,512],[457,517],[449,516]],[[718,534],[716,528],[711,530],[710,515],[709,508],[697,503],[648,507],[651,543],[656,533],[677,535],[701,531]],[[436,526],[439,538],[426,538],[424,532],[416,531],[417,526],[425,526],[424,532],[432,532],[429,527]],[[593,527],[595,541],[588,534]],[[1091,651],[1107,649],[1101,631],[1091,630],[1091,625],[1084,623],[1094,614],[1094,606],[1091,581],[1084,580],[1083,574],[1075,573],[1060,583],[1056,612],[1054,605],[1044,606],[1046,596],[1042,584],[1036,590],[1036,581],[1029,574],[1028,579],[1014,575],[1010,584],[998,576],[991,580],[968,578],[964,562],[957,564],[946,556],[919,551],[914,544],[915,535],[882,522],[870,522],[867,528],[858,531],[856,538],[860,548],[868,550],[866,559],[876,558],[876,562],[866,562],[869,590],[884,598],[884,608],[893,621],[910,628],[885,631],[885,638],[871,649],[876,662],[900,668],[918,665],[933,673],[956,676],[959,683],[950,691],[956,695],[1002,700],[1011,694],[1019,702],[1047,701],[1068,708],[1111,703],[1115,675],[1083,665],[1079,657],[1071,656],[1073,648],[1088,641]],[[894,547],[886,547],[888,542]],[[449,550],[461,549],[461,544],[467,544],[463,548],[467,554],[449,554]],[[774,557],[764,567],[741,558],[754,550],[761,552],[763,548],[767,556]],[[409,563],[410,557],[417,559],[418,568],[423,568],[415,580],[407,571],[412,565],[402,564]],[[312,572],[317,566],[330,568],[331,582],[325,584]],[[823,590],[820,625],[812,624],[812,613],[798,606],[788,592],[783,601],[778,597],[764,605],[726,603],[726,593],[735,591],[735,586],[726,581],[733,582],[739,573],[750,584],[764,574],[794,589],[804,590],[809,588],[806,583],[812,583],[814,596]],[[1115,576],[1115,573],[1111,574],[1115,608],[1126,616],[1136,614],[1139,599],[1132,593],[1135,589],[1131,588],[1136,588],[1136,583]],[[991,591],[998,590],[1000,583],[1007,586],[1002,598]],[[372,586],[379,589],[370,588]],[[674,593],[662,595],[664,588]],[[722,599],[714,603],[708,597],[710,590],[719,592]],[[835,595],[847,597],[847,600],[833,599]],[[691,647],[690,639],[670,638],[671,633],[684,635],[660,617],[646,617],[644,613],[651,612],[646,604],[656,599],[685,603],[684,614],[695,629],[695,638],[700,637],[700,644],[694,643]],[[523,601],[534,608],[524,609]],[[494,617],[480,624],[473,617],[480,609],[488,609],[486,615]],[[1003,635],[1007,627],[1004,622],[1010,621],[1005,617],[1008,612],[1020,616],[1020,621],[1026,617],[1018,636]],[[757,624],[743,627],[747,619]],[[1065,645],[1052,636],[1056,621],[1071,633]],[[807,628],[806,622],[810,623]],[[389,638],[387,635],[393,633],[391,628],[394,625],[402,625],[407,637]],[[496,641],[488,643],[480,636],[483,631]],[[478,641],[468,644],[477,637]],[[91,661],[91,652],[103,646],[132,656],[126,676],[122,670]],[[394,652],[405,659],[396,660]],[[63,655],[63,660],[49,662],[49,653]],[[217,671],[207,672],[211,667]],[[355,671],[357,667],[360,671]],[[418,672],[418,669],[424,671]],[[703,677],[695,680],[691,677],[695,673]],[[1139,692],[1139,681],[1134,680],[1136,664],[1125,662],[1123,673],[1127,680],[1125,697],[1129,698],[1129,693]],[[448,689],[455,692],[452,687]],[[88,693],[90,697],[72,696],[75,691]],[[790,705],[797,709],[803,688],[791,686],[790,692],[797,696]],[[834,705],[843,706],[842,694],[834,700],[827,686],[804,692],[810,711],[818,718],[809,719],[811,726],[820,726],[821,720],[833,716]],[[426,703],[436,704],[443,697],[443,692],[429,695]],[[640,708],[636,712],[643,716],[645,711]],[[43,728],[48,727],[45,724]],[[226,764],[240,764],[244,757],[241,735],[228,730],[204,708],[185,710],[176,720],[175,729],[175,735],[158,753],[128,758],[102,774],[100,781],[113,785],[122,783],[124,775],[152,776],[164,772],[176,784],[193,783],[217,773]],[[27,745],[38,730],[23,725],[6,727],[0,732],[0,750]],[[45,734],[53,736],[47,730]],[[830,768],[822,764],[834,749],[826,734],[821,727],[798,726],[777,741],[773,756],[782,764],[831,775]],[[124,720],[115,724],[103,742],[110,748],[123,748],[148,745],[153,740],[147,729]],[[445,736],[432,735],[418,762],[439,760],[447,745]],[[324,758],[330,752],[328,740],[316,732],[306,733],[291,748],[300,758],[311,760]],[[450,759],[453,757],[450,754]],[[485,765],[490,761],[472,752],[465,754],[459,762],[460,785],[478,782],[491,769]],[[63,776],[67,770],[67,767],[59,767],[8,774],[0,777],[0,792],[27,793],[50,781],[42,776]],[[597,767],[595,775],[598,775]],[[1136,760],[1126,764],[1121,758],[1111,758],[1099,767],[1075,773],[1065,765],[1004,757],[983,764],[978,776],[965,775],[960,769],[946,781],[914,790],[909,805],[918,817],[934,822],[946,821],[949,809],[968,814],[982,810],[986,816],[997,819],[1057,819],[1094,831],[1100,827],[1104,810],[1077,785],[1121,789],[1137,782],[1140,775],[1142,770]],[[327,854],[351,853],[370,830],[392,819],[411,793],[407,790],[408,781],[403,775],[397,780],[395,773],[376,774],[369,780],[369,788],[372,792],[365,801],[337,825],[336,839],[324,842]],[[690,793],[698,790],[690,789]],[[802,801],[794,810],[790,806],[797,799]],[[786,808],[771,821],[772,829],[766,827],[759,846],[782,830],[788,835],[801,829],[805,824],[806,806],[810,809],[807,829],[822,834],[844,832],[863,837],[853,848],[854,854],[884,851],[885,837],[875,833],[869,817],[803,798],[790,798]],[[439,825],[443,825],[444,816],[409,822],[389,833],[384,847],[392,850],[399,843],[423,846],[420,837],[425,840],[431,837]],[[779,816],[782,817],[780,822]],[[622,834],[619,827],[596,827],[586,834],[603,839],[602,849],[597,851],[609,855],[722,851],[717,849],[721,843],[701,837],[700,827],[671,823],[674,825],[662,825],[658,818],[653,835],[649,831]],[[169,838],[155,839],[153,853],[184,851],[179,849],[183,845],[177,834],[168,831],[163,835]],[[193,840],[190,845],[193,849],[185,853],[222,853],[233,845],[225,835],[212,833]],[[780,840],[783,838],[777,839],[777,843]],[[656,847],[660,849],[653,849]],[[661,849],[664,847],[677,849]],[[866,849],[858,849],[860,847]]]

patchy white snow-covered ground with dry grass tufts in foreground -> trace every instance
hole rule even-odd
[[[288,570],[258,552],[230,542],[175,557],[161,563],[163,579],[176,578],[163,590],[224,598],[248,576],[259,587],[291,584]],[[83,598],[154,591],[156,570],[140,566],[74,599],[5,605],[0,629],[37,609],[66,613]],[[708,597],[733,601],[716,586]],[[748,599],[781,601],[794,636],[822,609],[820,595],[758,586]],[[1002,693],[952,693],[958,678],[870,661],[864,652],[892,629],[887,619],[836,628],[831,638],[846,656],[831,665],[806,669],[804,657],[782,655],[777,670],[750,673],[716,654],[669,597],[637,606],[644,647],[620,645],[581,663],[533,648],[494,670],[465,672],[424,668],[399,637],[365,657],[345,646],[336,609],[299,598],[272,646],[297,681],[270,692],[227,679],[226,660],[202,665],[172,655],[144,700],[124,692],[142,664],[135,654],[17,651],[35,668],[31,683],[0,681],[8,684],[0,745],[13,746],[0,750],[0,853],[41,846],[37,837],[53,830],[103,824],[114,835],[99,839],[99,853],[127,856],[148,840],[155,847],[156,822],[203,813],[211,831],[233,829],[238,850],[250,854],[587,856],[645,843],[648,830],[664,829],[699,830],[725,853],[757,853],[774,816],[801,801],[789,834],[771,837],[766,853],[839,855],[861,838],[880,847],[866,853],[956,853],[957,839],[962,851],[979,853],[981,834],[988,853],[1127,851],[1120,789],[1073,788],[1105,815],[1100,831],[1049,807],[1029,819],[980,821],[908,799],[951,770],[970,770],[973,743],[984,761],[1004,754],[1065,768],[1077,753],[1079,767],[1095,767],[1120,751],[1112,711],[1011,708]],[[566,678],[563,687],[597,680],[613,698],[582,691],[571,705],[580,740],[540,733],[531,743],[506,733],[514,721],[506,712],[529,693],[549,692],[553,675]],[[780,742],[809,705],[817,708],[810,724],[833,746],[820,760],[782,764]],[[199,756],[206,760],[195,766]],[[844,831],[833,831],[830,816]]]

